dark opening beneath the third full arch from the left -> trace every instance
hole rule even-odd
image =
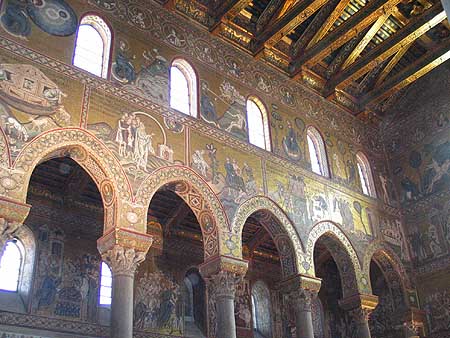
[[[244,224],[242,246],[249,268],[235,301],[238,336],[282,337],[283,325],[295,328],[278,287],[296,274],[290,239],[270,212],[257,211]]]

